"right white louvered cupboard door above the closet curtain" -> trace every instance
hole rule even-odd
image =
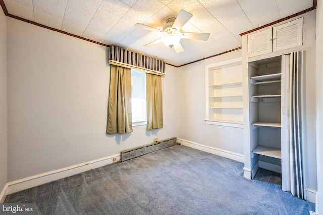
[[[273,52],[303,44],[303,17],[273,28]]]

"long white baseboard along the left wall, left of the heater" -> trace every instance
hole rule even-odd
[[[116,161],[113,161],[113,158],[116,158]],[[62,169],[45,172],[39,175],[34,175],[27,178],[19,179],[16,181],[8,182],[1,194],[6,197],[6,195],[9,195],[15,192],[19,192],[41,184],[49,183],[58,179],[62,179],[68,176],[72,176],[78,173],[82,173],[82,172],[95,169],[98,167],[102,167],[107,164],[115,163],[118,161],[120,161],[120,154],[112,155],[109,157],[96,159],[86,163],[81,163],[81,164],[65,167]]]

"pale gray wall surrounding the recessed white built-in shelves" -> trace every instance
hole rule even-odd
[[[243,129],[205,124],[205,66],[241,57],[241,49],[180,67],[178,137],[243,155]],[[242,73],[242,71],[241,71]]]

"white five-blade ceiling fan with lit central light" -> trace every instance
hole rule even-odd
[[[208,40],[209,33],[193,33],[193,32],[180,32],[180,29],[191,19],[193,15],[187,11],[180,10],[177,18],[169,18],[166,20],[163,29],[154,28],[148,25],[137,23],[135,27],[146,29],[149,31],[160,32],[163,36],[151,43],[144,46],[151,47],[159,42],[163,42],[167,47],[174,48],[176,53],[184,51],[180,44],[180,40],[183,39],[194,39],[194,40]]]

